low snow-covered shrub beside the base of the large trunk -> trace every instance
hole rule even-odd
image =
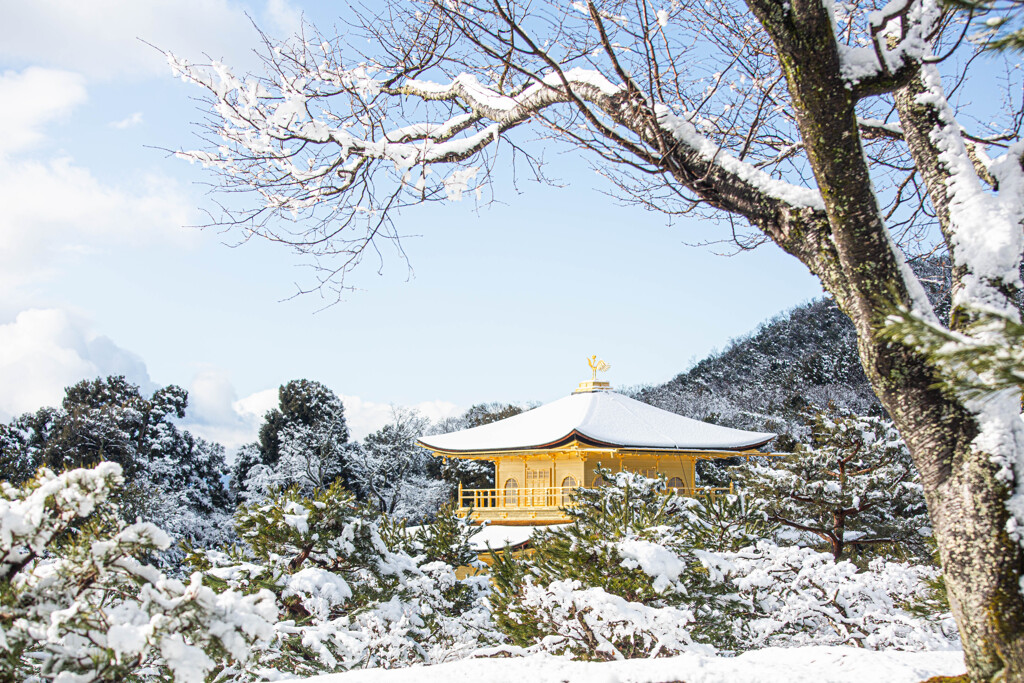
[[[948,611],[922,613],[931,566],[871,560],[866,570],[829,553],[763,541],[733,553],[706,554],[715,580],[735,587],[727,614],[742,649],[855,645],[869,649],[958,647]]]

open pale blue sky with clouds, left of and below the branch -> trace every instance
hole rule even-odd
[[[499,203],[408,211],[413,273],[368,262],[342,303],[289,298],[309,282],[268,244],[231,249],[189,225],[210,206],[196,144],[200,93],[138,39],[253,63],[247,14],[270,33],[330,3],[39,0],[0,27],[0,419],[109,373],[189,389],[193,429],[253,436],[276,387],[319,380],[356,435],[389,404],[442,417],[483,400],[548,401],[607,359],[613,384],[670,379],[820,294],[773,246],[726,258],[688,247],[714,225],[618,206],[574,155],[566,186],[505,183]]]

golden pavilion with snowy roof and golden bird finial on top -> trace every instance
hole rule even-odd
[[[419,445],[443,458],[495,464],[495,488],[459,487],[459,509],[476,521],[540,525],[568,521],[563,508],[578,486],[601,483],[597,467],[665,475],[685,495],[714,494],[696,485],[698,460],[765,455],[775,437],[685,418],[611,390],[597,380],[609,366],[590,359],[590,381],[570,395],[526,413],[447,434]]]

